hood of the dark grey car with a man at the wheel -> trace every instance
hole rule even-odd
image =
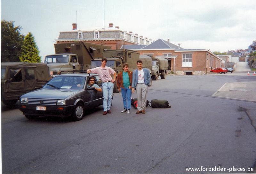
[[[81,90],[81,89],[80,89]],[[27,94],[22,95],[20,98],[44,98],[44,99],[65,99],[69,95],[78,92],[78,89],[48,89],[41,88]]]

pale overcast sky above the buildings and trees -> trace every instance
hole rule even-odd
[[[1,0],[1,20],[31,32],[40,56],[54,54],[60,31],[103,28],[104,0]],[[77,12],[76,12],[77,11]],[[76,17],[77,14],[77,17]],[[247,49],[256,40],[256,1],[105,0],[105,27],[114,23],[152,40],[182,48]]]

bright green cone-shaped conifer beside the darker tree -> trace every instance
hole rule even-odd
[[[21,47],[20,62],[37,63],[40,62],[39,50],[36,46],[34,36],[29,32]]]

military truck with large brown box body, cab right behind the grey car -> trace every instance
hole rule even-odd
[[[49,67],[50,76],[60,71],[87,70],[91,60],[102,57],[104,50],[110,46],[88,42],[69,42],[54,44],[55,54],[45,56],[44,63]]]

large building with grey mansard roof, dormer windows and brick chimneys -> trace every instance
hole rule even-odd
[[[90,42],[95,44],[104,44],[111,46],[111,49],[120,49],[122,45],[148,45],[152,43],[151,39],[142,35],[134,34],[132,31],[121,30],[119,26],[109,23],[109,27],[94,30],[78,30],[77,24],[73,23],[72,31],[60,32],[57,43],[67,42]]]

